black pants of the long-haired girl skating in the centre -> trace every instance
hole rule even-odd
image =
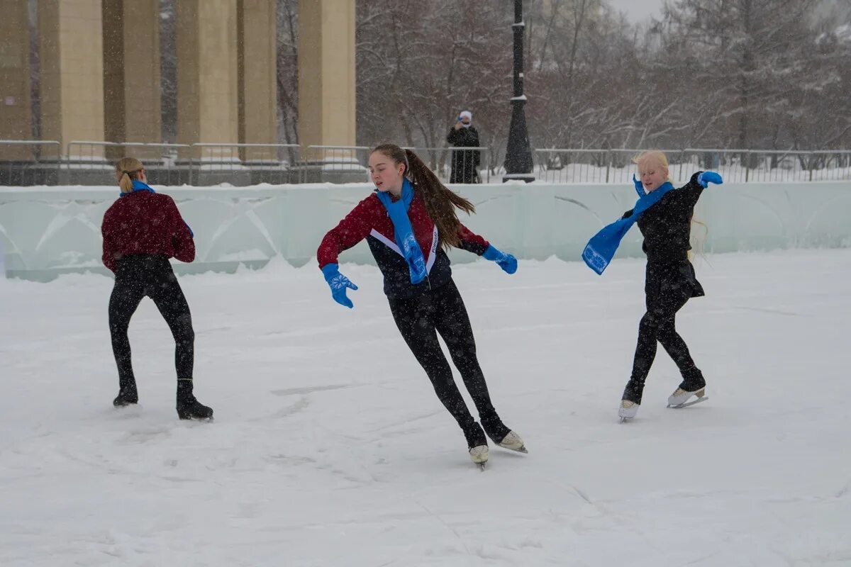
[[[470,318],[454,281],[449,280],[446,285],[415,298],[391,299],[390,310],[405,343],[431,380],[437,398],[464,431],[467,444],[483,445],[485,439],[455,384],[452,369],[437,342],[438,332],[476,404],[482,427],[499,443],[510,429],[505,427],[491,404],[488,384],[476,357]]]

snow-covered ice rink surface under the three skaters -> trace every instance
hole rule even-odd
[[[527,456],[488,470],[391,320],[380,274],[340,307],[315,266],[181,278],[210,423],[174,411],[172,339],[130,328],[116,410],[111,279],[0,280],[0,564],[851,564],[851,250],[710,256],[678,328],[710,400],[665,408],[660,349],[616,408],[643,262],[455,268],[494,404]]]

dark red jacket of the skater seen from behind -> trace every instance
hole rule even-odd
[[[120,197],[104,213],[100,226],[104,265],[113,272],[118,259],[131,254],[160,254],[181,262],[195,259],[195,241],[177,205],[168,195],[136,190]]]

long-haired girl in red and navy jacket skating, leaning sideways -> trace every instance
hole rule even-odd
[[[357,286],[340,274],[337,258],[366,238],[384,276],[384,292],[399,332],[426,371],[437,398],[464,432],[472,461],[482,466],[488,461],[485,434],[506,449],[526,452],[523,439],[505,426],[491,403],[470,319],[452,281],[444,248],[463,248],[493,260],[509,274],[517,270],[517,259],[460,223],[456,208],[472,213],[472,203],[444,187],[414,152],[380,145],[369,156],[369,171],[375,192],[328,231],[317,251],[332,297],[352,307],[346,289]],[[437,333],[460,371],[481,426],[461,397]]]

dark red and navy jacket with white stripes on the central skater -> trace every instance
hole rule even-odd
[[[428,276],[418,284],[411,283],[408,263],[396,243],[393,221],[387,214],[387,209],[378,197],[368,196],[352,209],[346,218],[340,221],[334,229],[322,240],[317,250],[319,268],[326,264],[337,264],[340,252],[355,246],[364,238],[367,239],[369,251],[372,252],[375,263],[384,275],[384,292],[388,298],[412,298],[432,288],[446,284],[452,276],[449,268],[449,257],[440,247],[440,235],[437,226],[426,210],[422,197],[414,192],[414,200],[408,207],[408,218],[414,238],[420,245],[423,258],[426,260]],[[460,248],[481,256],[488,249],[488,241],[467,229],[463,224],[458,229]]]

